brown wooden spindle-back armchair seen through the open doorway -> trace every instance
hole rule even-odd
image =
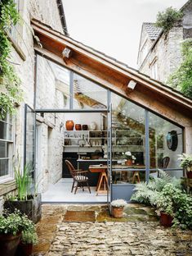
[[[76,194],[76,192],[78,190],[78,187],[80,187],[80,188],[82,187],[83,191],[84,191],[84,185],[86,185],[90,194],[91,194],[92,192],[91,192],[90,186],[88,184],[89,178],[87,177],[88,171],[75,170],[73,164],[71,162],[69,162],[68,160],[65,160],[65,163],[66,163],[66,165],[69,169],[69,172],[70,172],[71,176],[74,179],[72,189],[71,189],[71,193],[73,192],[74,187],[75,187],[74,194]],[[76,186],[74,186],[75,182],[77,183]]]

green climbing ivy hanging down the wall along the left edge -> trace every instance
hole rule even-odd
[[[0,0],[0,119],[7,112],[15,112],[22,99],[20,79],[9,61],[11,42],[7,31],[19,21],[19,13],[13,0]]]

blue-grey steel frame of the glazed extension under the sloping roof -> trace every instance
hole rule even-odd
[[[38,72],[38,56],[40,57],[44,57],[45,59],[54,62],[51,58],[47,57],[47,56],[43,56],[41,53],[35,52],[35,72],[34,72],[34,95],[33,95],[33,109],[30,107],[30,109],[36,113],[92,113],[92,112],[104,112],[107,113],[108,116],[112,115],[112,103],[111,103],[111,93],[113,92],[114,94],[118,94],[117,92],[114,92],[110,89],[106,89],[107,90],[107,108],[105,109],[74,109],[74,74],[79,75],[78,73],[71,71],[69,68],[65,67],[65,69],[69,70],[69,108],[68,109],[51,109],[51,108],[41,108],[38,109],[36,108],[36,99],[37,99],[37,72]],[[58,66],[62,66],[59,63],[55,62]],[[80,75],[83,77],[83,75]],[[87,78],[85,78],[87,79]],[[89,80],[89,79],[87,79]],[[92,80],[90,80],[92,81]],[[105,88],[104,86],[96,83],[94,81],[94,84]],[[118,94],[120,97],[124,98],[122,95]],[[127,99],[127,98],[125,98]],[[130,102],[132,102],[132,100],[130,100]],[[135,103],[136,104],[136,103]],[[180,127],[182,129],[182,141],[183,141],[183,145],[182,148],[184,149],[184,127],[183,126],[179,126],[178,124],[174,123],[173,121],[168,120],[166,117],[163,117],[145,107],[143,107],[141,104],[136,104],[139,107],[142,107],[145,111],[145,168],[143,169],[139,169],[138,171],[145,171],[145,181],[149,181],[150,179],[150,171],[158,171],[158,168],[153,168],[150,169],[150,126],[149,126],[149,113],[154,113],[157,117],[161,117],[164,120],[169,121],[170,123]],[[28,106],[28,105],[27,105]],[[26,106],[25,106],[26,107]],[[28,106],[29,107],[29,106]],[[111,109],[110,109],[111,107]],[[112,121],[112,119],[111,119]],[[26,125],[26,111],[25,111],[25,125]],[[109,125],[108,125],[109,128]],[[36,129],[35,129],[35,133],[36,133]],[[36,136],[36,135],[35,135]],[[113,193],[113,185],[112,184],[112,171],[118,171],[118,169],[113,169],[112,167],[112,126],[110,126],[110,131],[109,131],[109,145],[108,145],[108,150],[110,150],[109,153],[109,159],[108,159],[108,169],[109,169],[109,186],[110,186],[110,200],[112,199],[112,193]],[[36,158],[36,139],[35,139],[35,147],[34,147],[34,158]],[[25,145],[26,145],[26,127],[25,127]],[[26,158],[26,152],[25,152],[25,158]],[[36,161],[36,159],[35,159]],[[36,167],[36,165],[35,165]],[[166,171],[181,171],[182,169],[174,169],[174,168],[166,168],[164,169]],[[121,170],[122,171],[122,170]],[[123,169],[123,171],[125,171]],[[128,169],[127,171],[136,171],[136,169]],[[119,184],[118,184],[119,185]],[[132,184],[127,184],[128,185],[132,185]],[[109,196],[108,196],[108,200],[109,200]]]

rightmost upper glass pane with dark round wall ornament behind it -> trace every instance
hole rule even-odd
[[[180,168],[178,154],[183,152],[182,129],[149,113],[150,167]]]

